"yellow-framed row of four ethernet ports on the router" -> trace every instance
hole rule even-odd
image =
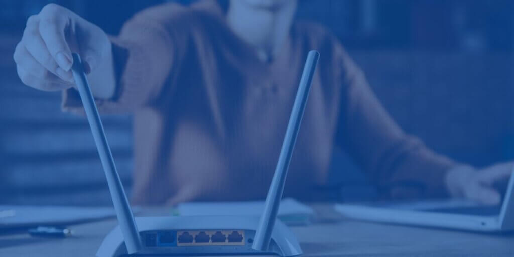
[[[177,231],[177,246],[240,246],[245,245],[243,230]]]

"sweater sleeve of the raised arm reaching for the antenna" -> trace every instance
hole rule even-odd
[[[116,95],[97,100],[101,112],[127,113],[171,99],[173,75],[187,47],[187,14],[178,4],[152,7],[126,22],[118,36],[111,36]],[[68,112],[83,112],[75,89],[63,92],[62,107]]]

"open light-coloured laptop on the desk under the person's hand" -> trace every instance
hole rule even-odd
[[[510,176],[503,203],[484,206],[469,200],[337,204],[336,211],[362,221],[437,227],[481,232],[514,230],[514,175]]]

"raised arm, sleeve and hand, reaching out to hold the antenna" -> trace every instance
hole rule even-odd
[[[185,53],[187,12],[178,4],[144,10],[128,21],[118,37],[56,4],[27,20],[13,59],[22,82],[45,90],[63,90],[63,107],[82,113],[70,67],[71,52],[85,61],[91,89],[104,112],[130,112],[173,91],[170,74]],[[175,72],[176,73],[176,72]]]

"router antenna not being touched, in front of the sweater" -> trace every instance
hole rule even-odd
[[[292,106],[291,116],[287,124],[286,135],[280,150],[279,161],[277,168],[269,186],[268,195],[266,196],[266,203],[264,204],[264,212],[262,213],[259,221],[259,227],[253,239],[252,249],[257,251],[267,251],[269,242],[271,240],[271,232],[277,213],[279,211],[280,199],[284,191],[284,184],[286,182],[287,169],[289,168],[289,161],[291,160],[292,150],[295,148],[295,142],[300,129],[300,124],[305,111],[307,98],[309,97],[310,85],[313,82],[314,71],[318,64],[320,54],[316,50],[309,51],[305,67],[303,68],[302,78],[296,94],[295,103]]]

